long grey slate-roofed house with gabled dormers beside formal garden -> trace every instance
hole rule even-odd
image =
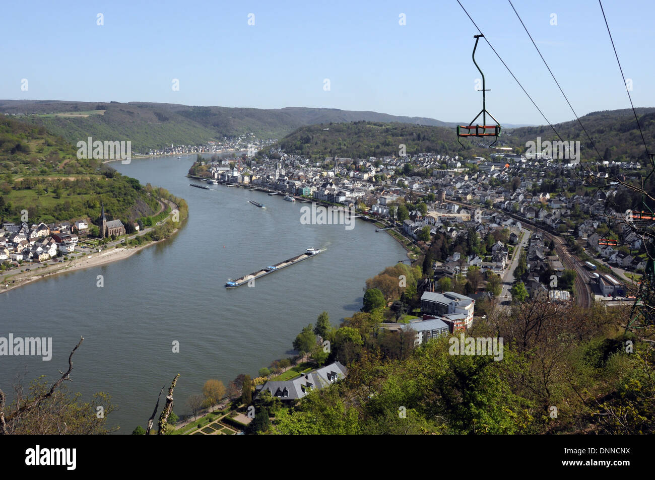
[[[314,389],[320,390],[324,386],[335,383],[348,375],[348,369],[341,365],[338,361],[303,373],[300,377],[293,378],[293,380],[286,380],[284,382],[266,382],[260,388],[255,388],[255,398],[261,395],[261,392],[268,390],[271,392],[272,397],[277,397],[280,400],[294,401],[301,399]]]

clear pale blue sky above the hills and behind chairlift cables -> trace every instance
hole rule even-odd
[[[573,119],[509,3],[460,1],[546,117]],[[513,3],[578,115],[629,107],[597,1]],[[635,106],[655,106],[646,50],[654,5],[603,7]],[[2,23],[3,99],[328,107],[457,122],[481,108],[477,31],[455,0],[24,1],[5,3]],[[501,124],[545,123],[482,41],[476,60]]]

